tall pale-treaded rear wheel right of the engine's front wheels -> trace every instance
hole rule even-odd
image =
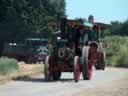
[[[92,77],[92,64],[89,63],[90,47],[84,46],[82,52],[82,73],[84,80],[90,80]]]

